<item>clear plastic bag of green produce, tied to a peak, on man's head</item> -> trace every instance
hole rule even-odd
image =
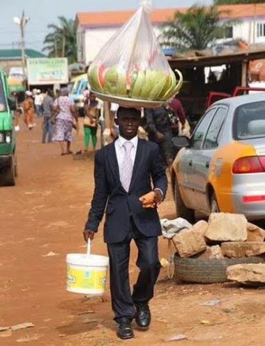
[[[94,92],[117,100],[161,103],[179,92],[182,75],[176,70],[177,82],[156,39],[149,11],[149,1],[142,1],[135,15],[100,50],[89,67],[89,84]]]

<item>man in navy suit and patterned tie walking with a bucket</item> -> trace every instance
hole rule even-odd
[[[155,192],[154,203],[162,202],[167,192],[167,176],[156,143],[137,137],[141,113],[119,107],[119,138],[96,152],[95,190],[84,229],[84,239],[93,239],[106,204],[104,240],[109,253],[112,310],[121,339],[134,336],[131,321],[147,329],[151,322],[148,302],[158,278],[158,236],[160,221],[156,208],[143,208],[139,197]],[[152,184],[151,184],[152,181]],[[138,248],[139,276],[130,292],[128,264],[130,241]]]

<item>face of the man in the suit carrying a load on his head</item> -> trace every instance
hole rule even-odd
[[[128,140],[137,136],[138,127],[140,124],[141,118],[136,114],[123,113],[119,115],[119,118],[116,119],[116,124],[119,125],[119,131],[123,138]]]

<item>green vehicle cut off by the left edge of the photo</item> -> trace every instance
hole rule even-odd
[[[11,110],[15,110],[15,102],[9,98],[6,75],[0,70],[0,185],[15,185],[17,175]]]

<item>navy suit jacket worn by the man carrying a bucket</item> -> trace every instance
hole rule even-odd
[[[114,142],[96,152],[94,178],[95,190],[85,229],[98,231],[98,225],[106,212],[104,225],[106,243],[119,243],[126,239],[130,231],[130,217],[144,236],[161,235],[157,210],[143,208],[139,201],[140,196],[153,188],[161,189],[164,196],[167,192],[167,175],[156,143],[138,139],[128,192],[123,189],[119,178]]]

